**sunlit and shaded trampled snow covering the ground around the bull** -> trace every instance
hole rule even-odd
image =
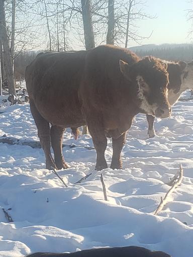
[[[0,136],[38,140],[29,104],[4,107]],[[1,111],[1,110],[0,110]],[[157,136],[147,137],[147,121],[135,118],[123,150],[123,170],[94,171],[95,151],[63,148],[71,168],[59,171],[68,184],[45,169],[42,149],[0,143],[0,256],[36,251],[76,251],[96,246],[139,245],[173,257],[193,255],[193,102],[178,102],[172,117],[157,119]],[[90,136],[65,143],[92,146]],[[109,140],[106,158],[112,156]],[[184,168],[184,178],[159,216],[152,213],[170,188],[165,183]],[[74,183],[92,173],[81,184]],[[11,208],[11,209],[10,209]],[[183,222],[186,222],[185,225]]]

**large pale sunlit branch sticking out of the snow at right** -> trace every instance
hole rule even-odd
[[[177,174],[179,176],[177,181],[169,189],[169,191],[166,193],[165,197],[164,198],[161,197],[160,204],[158,205],[157,209],[155,210],[154,215],[157,215],[163,209],[164,205],[168,201],[168,197],[171,195],[171,193],[174,191],[174,189],[181,184],[181,181],[182,181],[182,178],[183,178],[183,169],[182,169],[181,164],[179,166],[179,172],[177,172]]]

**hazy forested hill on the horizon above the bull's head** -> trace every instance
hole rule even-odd
[[[153,55],[171,61],[191,61],[193,54],[193,46],[191,44],[149,44],[130,47],[129,50],[141,57]]]

